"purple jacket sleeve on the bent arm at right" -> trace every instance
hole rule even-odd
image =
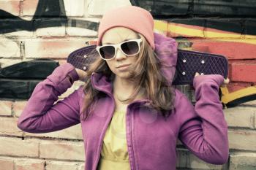
[[[223,164],[228,160],[227,123],[219,101],[219,86],[224,78],[218,74],[194,79],[195,107],[187,96],[178,101],[178,138],[198,158],[207,163]]]

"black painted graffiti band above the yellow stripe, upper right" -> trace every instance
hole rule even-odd
[[[147,9],[158,20],[256,35],[256,3],[252,1],[131,0],[131,3]]]

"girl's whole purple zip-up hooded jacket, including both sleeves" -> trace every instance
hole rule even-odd
[[[173,78],[177,59],[174,39],[155,34],[156,53],[163,74]],[[170,49],[174,53],[160,53]],[[69,81],[69,78],[72,81]],[[96,170],[102,148],[102,139],[108,128],[115,102],[112,83],[100,74],[91,76],[93,88],[106,95],[97,100],[97,107],[87,120],[80,115],[84,92],[82,85],[62,101],[58,96],[78,80],[74,66],[64,63],[45,80],[39,82],[18,119],[18,128],[30,133],[59,131],[81,123],[86,153],[86,170]],[[213,164],[223,164],[228,159],[227,123],[219,101],[219,86],[224,78],[211,74],[194,79],[196,104],[175,90],[175,111],[165,120],[156,110],[148,107],[148,99],[133,101],[127,106],[126,131],[129,163],[132,170],[176,169],[177,139],[198,158]]]

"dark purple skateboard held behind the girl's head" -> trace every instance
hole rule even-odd
[[[96,45],[82,47],[70,53],[67,62],[75,68],[88,70],[90,64],[97,59]],[[221,74],[227,78],[228,62],[223,55],[202,53],[190,50],[178,49],[176,73],[173,85],[192,85],[195,72],[199,74]]]

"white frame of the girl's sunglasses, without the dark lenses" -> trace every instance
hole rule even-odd
[[[100,58],[102,58],[102,59],[105,60],[105,61],[109,61],[109,60],[112,60],[113,58],[116,58],[116,48],[118,48],[118,49],[121,51],[121,53],[123,53],[124,55],[127,55],[127,54],[124,53],[124,51],[121,49],[121,45],[123,45],[123,44],[126,43],[126,42],[137,42],[137,43],[138,43],[138,46],[139,46],[138,53],[140,53],[140,42],[142,42],[142,39],[141,39],[141,38],[139,38],[139,39],[129,39],[129,40],[127,40],[127,41],[120,42],[120,43],[118,43],[118,44],[116,44],[116,45],[102,45],[102,46],[97,46],[97,47],[96,47],[96,50],[97,50],[97,52],[99,53]],[[110,59],[103,58],[102,55],[101,55],[100,52],[99,52],[100,48],[102,48],[102,47],[108,47],[108,46],[111,46],[111,47],[114,47],[114,48],[115,48],[115,54],[113,55],[113,58],[110,58]],[[135,53],[135,54],[132,54],[132,55],[137,55],[138,53]],[[127,56],[132,56],[132,55],[127,55]]]

